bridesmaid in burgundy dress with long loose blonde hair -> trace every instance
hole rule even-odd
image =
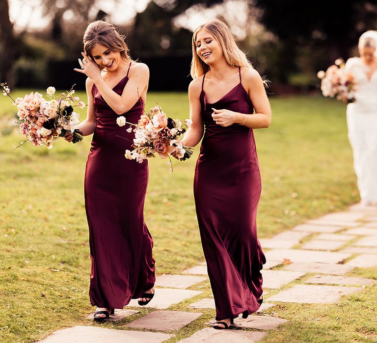
[[[192,125],[182,143],[193,147],[204,133],[195,205],[215,297],[213,327],[227,329],[262,303],[266,258],[257,239],[261,176],[253,129],[269,127],[271,110],[262,78],[228,26],[219,20],[199,26],[192,50]]]

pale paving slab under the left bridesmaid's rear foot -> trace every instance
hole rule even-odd
[[[200,291],[176,290],[174,288],[157,288],[154,298],[146,306],[139,306],[137,299],[132,299],[127,306],[131,307],[156,307],[163,310],[192,296],[202,294]]]

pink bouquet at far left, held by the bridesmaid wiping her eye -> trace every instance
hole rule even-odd
[[[78,97],[74,97],[73,87],[67,93],[62,93],[55,98],[55,88],[47,88],[47,97],[43,98],[38,92],[31,92],[24,98],[13,99],[10,96],[10,89],[6,83],[0,83],[3,89],[2,94],[13,100],[13,105],[17,106],[17,115],[22,123],[20,132],[25,137],[26,142],[31,142],[34,146],[45,146],[51,149],[53,142],[67,133],[73,133],[73,143],[82,141],[82,132],[73,129],[79,123],[79,114],[74,112],[74,107],[84,108],[85,104]]]

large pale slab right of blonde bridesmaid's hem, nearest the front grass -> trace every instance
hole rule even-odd
[[[342,295],[360,291],[361,287],[295,285],[269,297],[269,301],[298,302],[305,304],[329,304]]]

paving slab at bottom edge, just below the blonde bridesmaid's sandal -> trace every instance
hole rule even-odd
[[[206,327],[185,338],[180,343],[252,343],[262,340],[266,332],[243,331],[243,330],[215,330]]]

